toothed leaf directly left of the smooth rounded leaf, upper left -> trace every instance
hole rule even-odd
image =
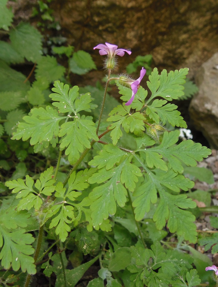
[[[56,58],[43,56],[37,62],[36,79],[45,78],[49,83],[63,77],[65,67],[58,65]]]

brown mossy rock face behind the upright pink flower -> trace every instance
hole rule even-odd
[[[30,18],[36,0],[9,5],[16,21],[39,20]],[[192,77],[218,52],[217,0],[53,0],[47,5],[62,27],[55,35],[66,37],[75,51],[91,52],[100,69],[102,57],[93,47],[104,42],[132,50],[131,56],[120,57],[118,72],[137,55],[152,54],[159,70],[188,67]]]

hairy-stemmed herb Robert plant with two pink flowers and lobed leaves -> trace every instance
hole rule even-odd
[[[106,55],[108,71],[97,121],[92,117],[94,94],[55,81],[49,95],[52,105],[32,108],[13,133],[12,139],[30,139],[35,151],[58,147],[59,156],[57,166],[38,177],[6,182],[15,197],[1,208],[1,265],[27,272],[29,286],[36,264],[51,250],[47,246],[44,252],[47,234],[54,240],[52,247],[58,245],[58,256],[50,252],[41,267],[48,277],[56,274],[55,286],[75,286],[98,259],[99,278],[88,286],[103,287],[104,280],[107,286],[197,285],[201,280],[192,269],[192,257],[180,248],[182,242],[197,241],[195,216],[188,210],[196,203],[186,195],[194,183],[182,173],[184,166],[196,166],[211,151],[191,139],[177,144],[180,131],[166,127],[187,127],[170,102],[183,95],[188,68],[161,74],[155,68],[147,81],[148,96],[140,86],[143,67],[137,80],[111,77],[116,57],[131,51],[110,43],[94,49]],[[103,119],[112,80],[123,102]],[[62,158],[72,165],[63,181],[58,173]],[[33,230],[38,230],[35,251]],[[176,248],[165,243],[168,232],[178,237]],[[94,259],[67,269],[61,252],[72,246],[84,254],[92,251]]]

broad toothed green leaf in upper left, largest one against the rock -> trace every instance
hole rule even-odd
[[[20,23],[10,31],[11,45],[28,61],[37,62],[42,55],[42,35],[29,23]]]

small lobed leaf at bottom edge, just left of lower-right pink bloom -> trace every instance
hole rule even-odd
[[[196,269],[191,269],[190,272],[186,273],[186,280],[184,276],[177,276],[178,279],[171,282],[173,287],[186,287],[186,281],[188,282],[188,287],[198,286],[201,283],[201,279],[199,279],[198,272]]]

